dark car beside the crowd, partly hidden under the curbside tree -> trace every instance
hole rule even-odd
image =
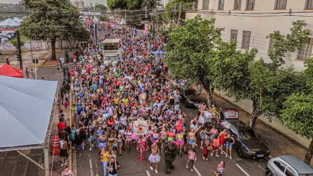
[[[202,102],[202,99],[195,89],[189,88],[187,86],[179,86],[178,90],[181,97],[181,102],[186,107],[191,106],[198,108],[198,106]]]

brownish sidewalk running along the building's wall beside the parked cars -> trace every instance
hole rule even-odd
[[[207,101],[206,98],[206,91],[202,88],[201,91],[201,98]],[[220,96],[213,95],[213,103],[220,107],[230,107],[236,108],[239,110],[239,119],[246,124],[250,122],[250,113],[239,108],[238,106],[232,104],[231,102],[223,99]],[[288,136],[278,132],[277,130],[270,127],[268,124],[264,123],[263,121],[257,119],[254,127],[254,131],[260,135],[260,138],[264,143],[268,146],[270,151],[270,155],[273,157],[280,156],[280,155],[295,155],[300,159],[304,160],[305,154],[307,149],[302,145],[296,142],[296,139],[291,139]],[[313,162],[311,161],[311,165]]]

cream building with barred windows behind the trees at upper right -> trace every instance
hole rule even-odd
[[[257,58],[268,60],[271,42],[266,37],[279,30],[290,33],[292,22],[304,20],[313,33],[313,0],[198,0],[198,10],[186,14],[186,19],[197,14],[205,19],[216,18],[216,27],[224,28],[224,41],[238,42],[238,49],[256,47]],[[286,54],[286,66],[303,69],[303,62],[312,57],[313,35],[293,53]]]

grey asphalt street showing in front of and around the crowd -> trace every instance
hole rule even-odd
[[[73,67],[73,65],[67,65],[68,68]],[[38,76],[45,77],[45,80],[60,81],[63,80],[62,72],[57,71],[54,66],[51,67],[41,67],[38,69]],[[187,115],[188,121],[197,115],[196,108],[185,108],[181,106],[183,112]],[[199,136],[198,136],[199,139]],[[200,140],[198,140],[200,141]],[[200,146],[200,144],[198,143]],[[140,162],[139,154],[132,146],[131,153],[122,153],[122,157],[117,156],[117,160],[121,167],[117,170],[118,176],[165,176],[165,162],[164,157],[161,155],[161,162],[159,166],[159,174],[151,171],[149,168],[149,161],[147,158],[151,152],[145,153],[145,158],[143,162]],[[196,147],[197,161],[195,167],[200,175],[196,171],[193,173],[185,168],[188,162],[187,155],[182,154],[176,158],[174,165],[176,168],[172,171],[170,175],[173,176],[212,176],[211,170],[216,170],[216,167],[220,160],[224,160],[226,163],[225,176],[264,176],[265,167],[267,160],[265,159],[241,159],[237,156],[235,150],[233,150],[232,159],[226,158],[224,155],[220,157],[208,155],[209,160],[202,160],[202,151],[199,147]],[[75,159],[75,158],[73,158]],[[76,155],[77,163],[77,176],[103,176],[103,166],[100,162],[100,156],[98,150],[93,149],[91,152],[89,148],[82,151],[82,155]],[[153,165],[155,168],[155,166]],[[242,168],[242,171],[240,168]],[[149,175],[148,175],[148,173]],[[245,173],[246,172],[246,173]],[[246,175],[247,174],[247,175]]]

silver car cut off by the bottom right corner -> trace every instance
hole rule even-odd
[[[296,156],[278,156],[268,161],[266,176],[313,176],[313,168]]]

